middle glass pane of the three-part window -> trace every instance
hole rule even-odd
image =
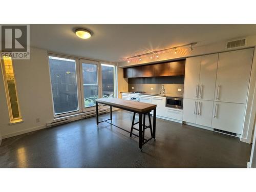
[[[82,62],[84,108],[96,105],[98,98],[97,65]]]

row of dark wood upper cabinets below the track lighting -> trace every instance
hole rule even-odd
[[[124,78],[185,75],[185,60],[157,63],[123,69]]]

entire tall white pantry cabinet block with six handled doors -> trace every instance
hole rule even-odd
[[[253,48],[186,59],[183,121],[242,134]]]

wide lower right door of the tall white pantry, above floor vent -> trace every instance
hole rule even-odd
[[[246,104],[214,102],[211,127],[242,134]]]

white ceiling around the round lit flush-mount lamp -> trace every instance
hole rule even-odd
[[[89,39],[74,30],[92,31]],[[199,42],[197,46],[256,34],[256,25],[30,25],[30,45],[105,61]]]

